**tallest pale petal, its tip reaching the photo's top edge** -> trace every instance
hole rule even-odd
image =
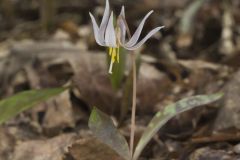
[[[106,0],[105,10],[104,10],[102,22],[99,28],[99,32],[100,32],[99,34],[101,35],[102,38],[104,38],[109,16],[110,16],[110,6],[109,6],[109,1]]]

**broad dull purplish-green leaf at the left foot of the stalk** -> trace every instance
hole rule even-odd
[[[126,139],[118,132],[108,115],[94,107],[88,126],[93,135],[100,141],[107,144],[124,159],[131,159]]]

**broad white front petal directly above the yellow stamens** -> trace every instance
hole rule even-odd
[[[113,26],[113,12],[111,13],[111,16],[108,21],[106,33],[105,33],[105,43],[108,47],[117,47],[116,44],[116,35],[115,30]]]

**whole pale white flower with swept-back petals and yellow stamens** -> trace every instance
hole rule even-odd
[[[127,50],[135,50],[143,45],[153,34],[158,32],[162,27],[157,27],[150,31],[145,38],[143,38],[140,42],[138,42],[139,37],[141,35],[143,26],[147,18],[152,14],[153,11],[150,11],[142,20],[137,30],[133,34],[133,36],[126,41],[126,32],[128,29],[126,20],[125,20],[125,9],[122,7],[121,13],[118,18],[118,23],[116,26],[116,30],[113,25],[113,12],[110,13],[109,1],[106,0],[106,6],[102,18],[102,22],[100,26],[98,26],[95,18],[91,13],[90,17],[93,24],[94,37],[100,46],[105,46],[109,48],[109,56],[111,57],[109,73],[112,74],[113,64],[117,61],[119,63],[119,48],[122,46]]]

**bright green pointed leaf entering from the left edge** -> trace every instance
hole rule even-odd
[[[20,92],[0,101],[0,124],[67,88],[53,88]]]

